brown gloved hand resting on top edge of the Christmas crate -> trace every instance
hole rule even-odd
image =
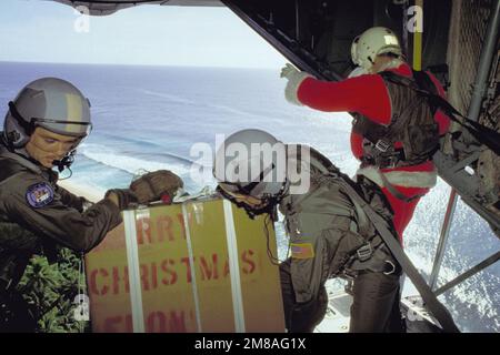
[[[171,204],[176,192],[183,185],[182,180],[171,171],[158,170],[132,181],[130,190],[141,204],[159,200],[166,204]]]

